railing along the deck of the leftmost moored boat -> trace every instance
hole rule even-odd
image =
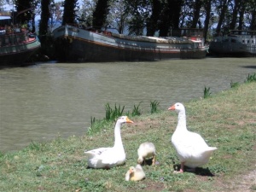
[[[11,46],[15,44],[26,44],[36,38],[30,32],[0,32],[0,47]]]

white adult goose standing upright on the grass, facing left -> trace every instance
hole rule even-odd
[[[209,147],[201,135],[187,130],[186,113],[182,103],[175,103],[168,110],[178,113],[177,128],[172,135],[172,144],[177,150],[177,156],[181,162],[179,172],[184,171],[184,166],[195,168],[206,164],[214,150]]]

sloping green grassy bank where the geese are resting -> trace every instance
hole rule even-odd
[[[127,160],[110,170],[88,169],[84,150],[112,146],[114,123],[90,136],[56,138],[1,154],[0,191],[245,191],[240,183],[256,170],[256,83],[184,105],[189,130],[218,148],[195,173],[173,173],[179,164],[170,142],[177,113],[166,110],[133,117],[133,125],[123,126]],[[125,172],[136,166],[139,144],[146,141],[155,144],[158,165],[143,166],[145,180],[125,182]],[[255,179],[245,187],[256,190]]]

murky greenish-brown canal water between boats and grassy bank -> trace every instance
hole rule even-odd
[[[152,62],[38,63],[0,70],[0,151],[14,151],[57,136],[81,136],[105,105],[131,111],[150,102],[167,109],[230,89],[256,72],[256,58],[206,58]]]

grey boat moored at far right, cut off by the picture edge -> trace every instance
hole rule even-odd
[[[256,56],[256,31],[230,31],[228,36],[217,36],[209,52],[218,56]]]

